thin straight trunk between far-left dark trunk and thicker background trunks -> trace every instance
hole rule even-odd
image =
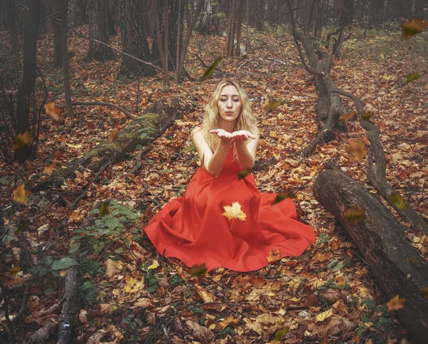
[[[70,89],[70,66],[68,62],[68,47],[67,47],[67,9],[68,0],[59,0],[59,9],[61,11],[61,52],[62,66],[64,79],[64,93],[66,95],[67,116],[73,118],[73,106],[71,106],[71,89]]]

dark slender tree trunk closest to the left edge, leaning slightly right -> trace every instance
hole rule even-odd
[[[29,1],[24,38],[24,67],[16,106],[16,134],[30,130],[30,99],[36,85],[37,34],[39,31],[40,8],[40,0]],[[26,161],[30,154],[31,146],[26,144],[24,147],[16,149],[15,160],[19,162]]]

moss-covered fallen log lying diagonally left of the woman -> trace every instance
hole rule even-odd
[[[103,141],[81,158],[68,161],[65,167],[58,168],[54,173],[33,188],[33,192],[46,190],[52,186],[60,187],[63,181],[72,178],[75,171],[89,169],[98,172],[106,164],[122,161],[128,153],[132,153],[136,146],[150,146],[154,139],[174,123],[182,118],[183,113],[192,108],[190,102],[181,98],[172,101],[166,99],[148,106],[141,116],[135,118],[125,128],[118,132],[112,142]],[[151,132],[153,130],[153,132]],[[146,133],[146,135],[142,135]]]

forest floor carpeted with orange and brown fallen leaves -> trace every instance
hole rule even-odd
[[[78,29],[87,31],[86,26]],[[355,33],[335,59],[332,79],[359,96],[366,111],[374,113],[372,121],[380,128],[387,156],[389,183],[419,214],[427,216],[428,33],[408,41],[402,41],[399,28],[371,32],[367,39],[359,35]],[[76,118],[60,114],[54,119],[44,114],[36,158],[23,164],[0,163],[0,208],[10,214],[4,221],[14,223],[1,257],[2,265],[6,264],[1,280],[11,288],[11,318],[19,310],[26,281],[36,278],[16,332],[18,343],[31,338],[56,343],[66,269],[53,262],[68,256],[73,246],[70,239],[101,200],[118,201],[111,203],[110,210],[117,211],[108,218],[116,218],[118,228],[126,231],[103,236],[86,228],[78,233],[82,241],[81,302],[76,319],[79,343],[411,343],[395,318],[397,311],[387,310],[389,300],[377,288],[345,229],[312,195],[322,162],[329,160],[376,193],[362,172],[367,158],[355,161],[346,150],[350,138],[365,141],[367,147],[365,131],[357,122],[348,121],[349,130],[336,133],[336,139],[319,146],[314,155],[296,156],[317,133],[312,76],[302,68],[286,32],[253,33],[250,42],[248,59],[223,59],[212,78],[185,79],[179,86],[172,81],[168,87],[162,76],[138,81],[118,78],[119,56],[103,63],[86,61],[88,41],[70,37],[73,100],[109,101],[137,115],[162,98],[182,96],[195,103],[195,111],[175,121],[154,141],[135,175],[128,173],[138,151],[108,168],[73,212],[68,208],[93,178],[90,171],[66,181],[62,186],[66,202],[47,209],[43,198],[35,195],[29,196],[28,206],[12,203],[12,191],[21,183],[26,188],[35,186],[68,159],[81,156],[106,140],[111,131],[126,126],[129,119],[123,113],[101,106],[76,106]],[[111,44],[120,49],[120,37],[111,38]],[[196,56],[212,64],[225,54],[225,45],[225,38],[195,34],[185,64],[189,74],[199,79],[205,67]],[[61,103],[62,74],[51,66],[53,49],[52,37],[39,41],[38,62],[49,101]],[[414,72],[419,72],[419,79],[407,83],[406,76]],[[257,271],[218,268],[196,278],[180,261],[161,257],[143,228],[165,203],[183,196],[198,168],[190,131],[200,123],[215,84],[230,77],[238,79],[253,99],[261,133],[254,171],[260,191],[297,190],[306,183],[292,200],[301,221],[315,228],[317,241],[302,256],[282,258]],[[267,112],[268,101],[281,104]],[[342,101],[352,111],[352,103]],[[66,228],[56,231],[64,217],[68,218]],[[98,226],[108,227],[106,217],[98,220]],[[418,233],[407,236],[427,258],[428,239]],[[22,270],[13,270],[19,265]],[[5,324],[4,309],[0,312]],[[39,328],[44,333],[36,333]]]

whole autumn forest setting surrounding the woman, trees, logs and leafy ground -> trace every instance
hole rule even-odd
[[[1,343],[423,343],[427,14],[422,0],[1,0]],[[226,78],[258,119],[260,191],[291,197],[317,241],[205,274],[143,228],[183,196],[190,131]]]

